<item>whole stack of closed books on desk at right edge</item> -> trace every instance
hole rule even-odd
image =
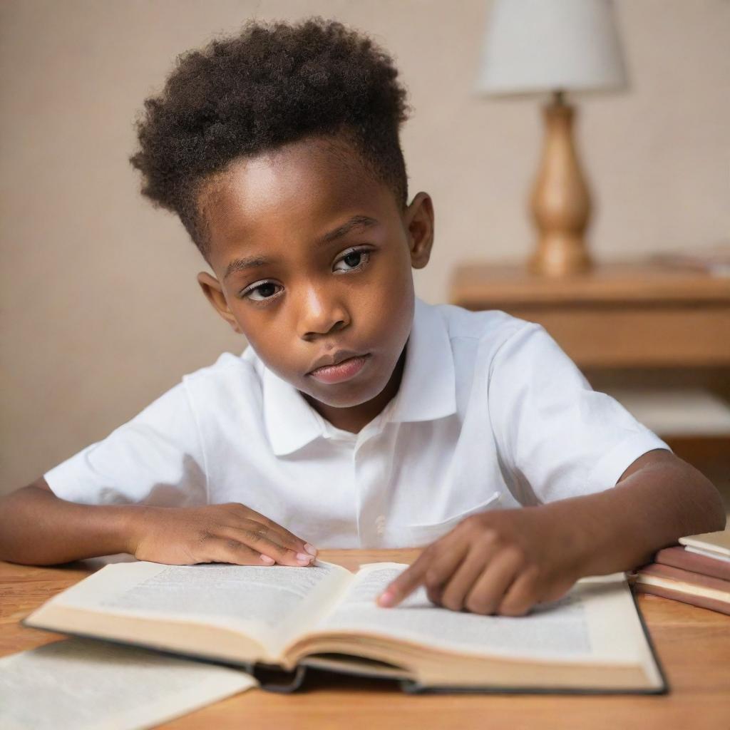
[[[730,531],[680,537],[639,568],[634,587],[730,615]]]

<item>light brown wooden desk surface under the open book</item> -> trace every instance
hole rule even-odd
[[[324,560],[410,562],[414,550],[323,550]],[[20,619],[89,574],[87,564],[36,568],[0,561],[0,656],[31,649],[61,634],[26,629]],[[730,617],[639,596],[661,664],[666,696],[422,695],[392,683],[312,672],[296,694],[257,689],[185,715],[170,730],[422,728],[727,730],[730,718]]]

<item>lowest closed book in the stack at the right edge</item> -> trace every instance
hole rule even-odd
[[[652,563],[637,572],[636,590],[730,615],[730,581]]]

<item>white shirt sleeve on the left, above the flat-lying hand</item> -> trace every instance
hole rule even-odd
[[[199,429],[185,381],[102,441],[43,475],[61,499],[83,504],[206,504]]]

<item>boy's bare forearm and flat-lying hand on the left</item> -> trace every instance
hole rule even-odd
[[[307,565],[316,550],[243,504],[153,507],[58,499],[43,477],[0,498],[0,560],[52,565],[130,553],[172,565]]]

